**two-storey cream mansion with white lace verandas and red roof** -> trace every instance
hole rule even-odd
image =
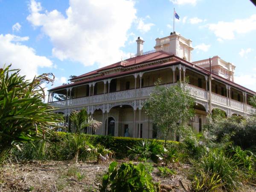
[[[141,38],[137,39],[135,57],[49,90],[49,104],[66,117],[74,110],[87,108],[93,118],[102,122],[96,132],[88,128],[88,134],[123,137],[128,130],[129,137],[157,138],[158,130],[143,111],[143,102],[158,79],[161,86],[169,87],[188,77],[186,88],[196,101],[195,117],[189,124],[195,131],[201,131],[207,114],[215,108],[227,116],[247,116],[253,112],[248,101],[256,93],[233,82],[233,64],[218,56],[192,62],[192,41],[175,32],[157,38],[154,51],[143,53],[143,43]]]

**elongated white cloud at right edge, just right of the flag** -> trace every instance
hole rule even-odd
[[[235,39],[236,34],[245,34],[256,30],[256,14],[246,19],[236,19],[232,22],[219,21],[206,25],[208,29],[223,40]]]

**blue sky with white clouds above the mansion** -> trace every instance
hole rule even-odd
[[[192,61],[215,55],[236,66],[235,82],[256,91],[256,7],[250,0],[0,0],[0,67],[53,87],[96,70],[175,31],[192,40]],[[46,90],[52,88],[45,84]]]

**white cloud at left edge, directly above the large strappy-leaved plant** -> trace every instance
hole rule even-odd
[[[38,67],[52,67],[52,61],[44,56],[36,54],[35,49],[21,44],[29,37],[16,35],[0,35],[0,63],[9,65],[12,68],[21,69],[20,74],[32,79],[38,74]]]

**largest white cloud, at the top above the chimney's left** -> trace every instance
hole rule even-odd
[[[41,3],[31,0],[29,10],[27,20],[49,37],[52,55],[84,66],[119,60],[136,19],[131,0],[70,0],[64,15],[58,10],[43,12]]]

